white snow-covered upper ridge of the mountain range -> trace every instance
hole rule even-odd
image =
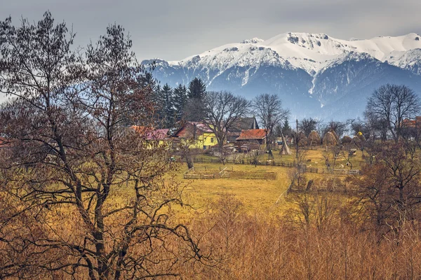
[[[220,73],[234,65],[244,67],[259,67],[262,64],[281,65],[303,69],[315,76],[334,62],[363,54],[403,69],[408,67],[414,69],[415,66],[421,65],[421,57],[418,57],[420,52],[413,51],[419,49],[421,49],[421,36],[415,33],[342,40],[324,33],[288,32],[265,41],[251,38],[241,43],[222,45],[200,55],[187,57],[180,62],[168,63],[189,68],[210,67]],[[348,56],[349,53],[354,55]]]

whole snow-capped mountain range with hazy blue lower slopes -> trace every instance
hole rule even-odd
[[[406,84],[421,94],[421,36],[415,33],[348,41],[286,33],[222,45],[177,62],[155,61],[161,83],[175,86],[199,77],[208,90],[248,98],[277,93],[300,118],[361,116],[366,97],[385,83]]]

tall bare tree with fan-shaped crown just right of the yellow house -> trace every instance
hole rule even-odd
[[[225,164],[224,144],[232,125],[246,116],[250,103],[231,92],[207,92],[204,97],[206,118],[203,122],[215,133],[220,159]]]

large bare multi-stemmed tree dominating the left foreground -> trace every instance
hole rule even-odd
[[[166,209],[181,197],[178,183],[163,179],[173,169],[168,151],[124,125],[150,123],[131,113],[151,106],[145,71],[118,25],[88,45],[86,59],[71,51],[73,38],[50,13],[36,25],[0,22],[1,92],[17,99],[0,118],[16,147],[1,162],[1,198],[10,203],[0,206],[0,247],[18,256],[1,275],[173,276],[199,248],[185,225],[169,223]],[[128,198],[114,200],[123,188]],[[184,245],[170,246],[177,241]]]

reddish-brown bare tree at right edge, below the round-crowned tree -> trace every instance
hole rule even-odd
[[[405,218],[414,221],[420,208],[420,172],[416,160],[405,155],[401,144],[373,146],[376,160],[363,167],[365,176],[352,179],[360,190],[361,205],[377,231],[391,230]]]

